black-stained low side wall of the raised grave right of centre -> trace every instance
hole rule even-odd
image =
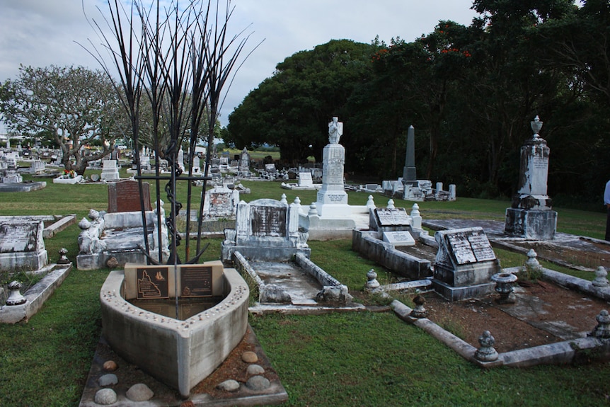
[[[432,276],[430,261],[396,250],[391,243],[379,239],[376,231],[352,231],[352,250],[410,280]]]

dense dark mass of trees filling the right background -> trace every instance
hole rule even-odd
[[[439,21],[411,42],[331,40],[297,52],[231,113],[226,141],[276,145],[287,163],[320,161],[338,115],[346,171],[396,179],[413,125],[420,178],[507,197],[539,115],[549,193],[598,199],[610,173],[610,2],[475,0],[473,9],[470,25]]]

